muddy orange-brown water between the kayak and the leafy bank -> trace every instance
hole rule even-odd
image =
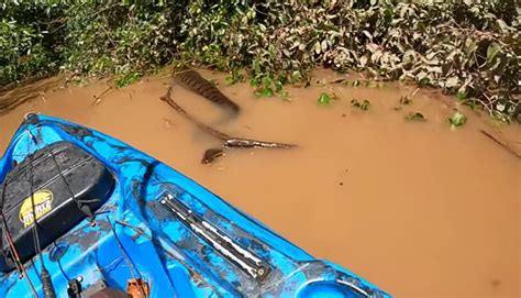
[[[174,98],[193,115],[232,135],[300,147],[228,150],[201,165],[202,153],[219,142],[158,100],[168,79],[152,77],[107,92],[98,104],[93,96],[107,82],[38,84],[35,99],[0,117],[0,150],[24,113],[64,118],[155,156],[396,297],[520,297],[521,163],[479,132],[521,150],[519,125],[492,126],[464,110],[468,123],[452,130],[453,100],[428,90],[395,111],[413,90],[399,85],[289,88],[289,102],[255,99],[246,84],[225,86],[224,76],[203,75],[217,78],[242,113],[223,121],[211,103],[175,87]],[[323,91],[339,99],[319,107]],[[353,98],[368,99],[370,109],[354,110]],[[410,111],[428,121],[406,122]]]

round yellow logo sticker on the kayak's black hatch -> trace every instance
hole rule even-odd
[[[34,200],[34,213],[36,213],[36,220],[47,214],[53,207],[53,192],[49,190],[38,190],[34,192],[32,197],[29,197],[23,200],[22,207],[20,208],[19,219],[23,223],[23,228],[27,228],[34,223],[33,214],[33,202]]]

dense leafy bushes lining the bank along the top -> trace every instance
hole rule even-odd
[[[324,66],[437,87],[521,121],[517,0],[7,1],[0,15],[2,86],[59,70],[124,86],[173,64],[285,97],[282,85],[307,86]]]

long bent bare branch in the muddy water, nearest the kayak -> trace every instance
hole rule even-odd
[[[198,128],[201,130],[208,132],[209,134],[215,136],[217,139],[223,141],[223,146],[224,147],[235,147],[235,148],[292,148],[296,147],[297,145],[295,144],[286,144],[286,143],[278,143],[278,142],[266,142],[266,141],[257,141],[257,140],[250,140],[250,139],[242,139],[242,137],[235,137],[235,136],[230,136],[223,132],[220,132],[215,129],[212,129],[208,126],[207,124],[200,122],[196,118],[193,118],[191,114],[189,114],[185,109],[182,109],[177,102],[174,101],[170,97],[171,93],[171,87],[168,87],[168,90],[165,96],[160,97],[159,99],[166,101],[174,110],[176,110],[178,113],[184,115],[186,119],[190,120],[192,123],[195,123]]]

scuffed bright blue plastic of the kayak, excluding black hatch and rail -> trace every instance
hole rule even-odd
[[[35,144],[29,133],[41,139]],[[151,297],[373,297],[388,298],[369,282],[328,261],[315,260],[251,216],[229,205],[193,180],[153,157],[95,130],[45,115],[31,115],[16,131],[2,159],[0,180],[33,153],[58,141],[73,142],[106,164],[117,187],[96,216],[56,241],[66,247],[43,252],[58,297],[67,297],[67,282],[82,277],[88,288],[98,280],[125,290],[130,278],[152,285]],[[234,243],[268,264],[257,280],[167,210],[159,200],[171,194],[193,214],[219,229]],[[138,231],[138,232],[137,232]],[[129,266],[118,246],[129,255]],[[40,260],[25,264],[29,277],[43,297]],[[16,272],[0,274],[0,297],[31,297]]]

